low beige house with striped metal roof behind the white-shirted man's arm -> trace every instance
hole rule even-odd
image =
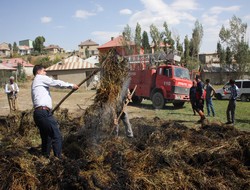
[[[79,84],[88,77],[97,67],[78,56],[71,56],[61,62],[46,68],[47,75],[54,79]],[[94,77],[82,85],[83,88],[92,88]]]

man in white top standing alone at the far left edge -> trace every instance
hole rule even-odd
[[[19,92],[19,87],[17,83],[14,82],[15,78],[10,77],[9,83],[5,85],[5,93],[7,94],[10,111],[17,110],[17,94]]]

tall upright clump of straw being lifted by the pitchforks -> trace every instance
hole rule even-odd
[[[129,85],[128,61],[111,49],[101,60],[101,80],[94,103],[84,114],[84,130],[90,130],[94,140],[106,136],[114,125],[117,109]]]

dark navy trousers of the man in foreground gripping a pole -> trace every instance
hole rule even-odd
[[[52,146],[54,155],[61,157],[62,136],[52,113],[48,110],[35,110],[33,117],[42,139],[42,154],[49,157]]]

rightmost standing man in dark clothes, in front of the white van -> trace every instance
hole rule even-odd
[[[230,97],[229,97],[229,102],[227,106],[227,122],[226,124],[233,124],[235,122],[235,108],[236,108],[236,100],[238,96],[238,87],[235,84],[235,80],[230,79],[229,81],[230,87]],[[230,117],[231,116],[231,117]]]

